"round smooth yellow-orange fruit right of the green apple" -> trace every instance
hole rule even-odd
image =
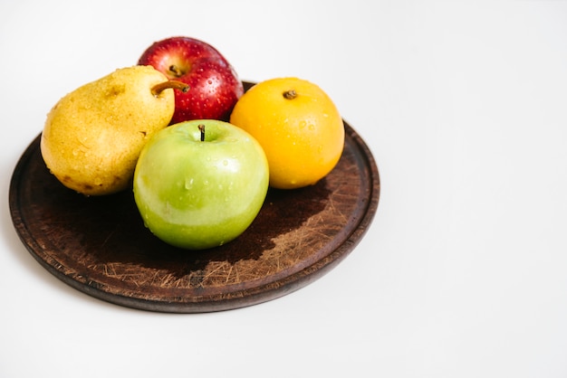
[[[264,148],[270,186],[294,189],[316,184],[339,162],[344,125],[332,99],[298,78],[264,80],[238,99],[230,123]]]

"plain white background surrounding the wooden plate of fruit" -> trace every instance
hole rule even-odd
[[[53,104],[173,35],[243,80],[312,80],[370,146],[378,213],[310,286],[149,313],[14,232],[9,180]],[[0,121],[0,377],[567,376],[565,2],[2,0]]]

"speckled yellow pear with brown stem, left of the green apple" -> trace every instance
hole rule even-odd
[[[141,148],[173,116],[172,88],[188,87],[138,65],[73,90],[47,115],[41,138],[45,165],[82,194],[126,189]]]

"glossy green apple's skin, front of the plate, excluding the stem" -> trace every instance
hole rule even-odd
[[[205,126],[201,141],[199,125]],[[245,130],[213,120],[171,125],[149,139],[134,172],[134,199],[160,240],[204,250],[234,240],[268,190],[264,150]]]

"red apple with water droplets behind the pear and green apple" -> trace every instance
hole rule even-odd
[[[150,65],[169,80],[189,85],[176,90],[176,110],[171,124],[191,119],[227,121],[244,93],[242,81],[225,57],[208,43],[189,37],[170,37],[153,43],[141,55],[139,65]]]

